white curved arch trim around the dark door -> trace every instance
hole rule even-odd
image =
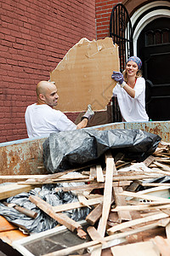
[[[137,42],[138,42],[139,34],[144,29],[144,26],[148,25],[152,20],[156,20],[157,18],[161,18],[161,17],[170,18],[170,11],[168,9],[163,9],[163,6],[170,7],[170,2],[156,1],[152,3],[148,3],[143,7],[139,8],[131,17],[132,26],[134,26],[136,20],[138,20],[139,16],[144,14],[146,10],[152,9],[154,7],[159,7],[159,6],[161,6],[160,9],[150,11],[150,13],[148,13],[147,15],[144,15],[144,17],[141,20],[139,20],[138,25],[135,27],[135,30],[133,32],[134,55],[137,55]]]

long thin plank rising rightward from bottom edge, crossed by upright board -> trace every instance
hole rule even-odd
[[[115,239],[120,239],[122,237],[132,236],[134,234],[137,234],[139,232],[143,232],[145,230],[155,229],[156,227],[158,227],[160,225],[161,224],[159,222],[157,222],[156,224],[148,224],[148,225],[145,225],[142,228],[138,228],[138,229],[135,229],[135,230],[130,230],[130,231],[127,231],[127,232],[124,232],[124,233],[114,234],[114,235],[111,235],[111,236],[105,236],[104,240],[105,241],[112,241],[112,240],[115,240]],[[88,247],[94,247],[95,245],[99,245],[99,241],[84,242],[84,243],[79,244],[79,245],[74,246],[74,247],[67,247],[65,249],[56,251],[54,253],[44,254],[43,256],[65,256],[65,255],[69,255],[71,253],[77,252],[80,249],[85,249],[85,248],[88,248]],[[109,246],[109,247],[111,247],[111,246]]]

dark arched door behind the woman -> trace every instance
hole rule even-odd
[[[146,111],[152,120],[170,119],[170,19],[151,21],[140,33],[138,56],[146,80]]]

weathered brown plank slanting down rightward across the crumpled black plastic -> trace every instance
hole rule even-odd
[[[77,236],[81,238],[86,238],[86,233],[82,230],[82,226],[78,224],[73,219],[69,218],[64,213],[55,213],[54,208],[49,205],[46,201],[43,201],[37,195],[30,195],[29,200],[34,203],[37,207],[42,209],[43,212],[46,212],[51,218],[54,218],[59,224],[65,225],[65,227],[72,232],[77,230]]]

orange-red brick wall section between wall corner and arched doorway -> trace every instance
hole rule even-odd
[[[96,0],[96,32],[97,39],[109,37],[111,10],[118,0]]]

